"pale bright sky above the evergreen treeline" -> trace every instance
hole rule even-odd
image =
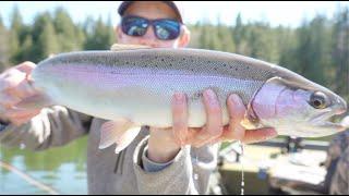
[[[224,24],[233,25],[238,13],[241,13],[243,23],[252,21],[267,21],[272,26],[297,27],[304,17],[312,19],[317,13],[333,17],[338,7],[348,7],[349,1],[181,1],[178,2],[184,13],[184,22],[216,23],[219,19]],[[24,23],[32,24],[36,14],[44,11],[52,12],[57,7],[63,7],[73,21],[84,22],[91,15],[94,19],[101,16],[107,21],[110,16],[116,25],[119,22],[117,14],[119,1],[1,1],[0,15],[9,26],[10,13],[16,4]]]

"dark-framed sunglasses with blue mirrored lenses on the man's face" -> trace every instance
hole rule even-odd
[[[121,19],[121,29],[129,36],[144,36],[149,25],[153,26],[155,36],[160,40],[176,39],[181,30],[181,23],[170,19],[147,20],[134,15]]]

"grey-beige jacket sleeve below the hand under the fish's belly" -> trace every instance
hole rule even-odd
[[[185,146],[172,161],[160,166],[160,170],[151,171],[152,169],[145,169],[142,162],[147,139],[148,136],[137,145],[133,155],[133,167],[141,194],[208,193],[209,177],[217,167],[218,145],[202,148]]]

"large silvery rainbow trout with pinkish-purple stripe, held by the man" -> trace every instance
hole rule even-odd
[[[279,135],[322,137],[341,132],[329,119],[347,111],[334,91],[286,68],[206,49],[113,45],[111,50],[60,53],[40,61],[31,85],[40,94],[20,107],[60,105],[107,120],[99,148],[124,149],[142,126],[171,127],[171,98],[184,93],[189,127],[206,123],[203,91],[212,89],[229,123],[226,100],[241,97],[246,130],[274,127]]]

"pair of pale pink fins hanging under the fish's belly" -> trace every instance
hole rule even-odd
[[[116,154],[128,147],[139,135],[141,126],[125,119],[105,122],[100,127],[99,149],[117,144]]]

